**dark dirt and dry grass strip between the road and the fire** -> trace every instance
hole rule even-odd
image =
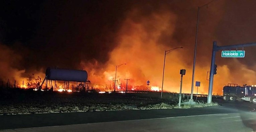
[[[161,99],[145,94],[0,90],[0,114],[159,109],[173,108],[176,104],[176,97]]]

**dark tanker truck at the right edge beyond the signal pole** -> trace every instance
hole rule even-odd
[[[243,85],[229,83],[223,87],[223,100],[250,101],[256,104],[256,85]]]

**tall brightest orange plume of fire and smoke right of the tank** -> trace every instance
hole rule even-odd
[[[191,42],[184,40],[184,43],[181,43],[172,39],[175,38],[173,34],[177,16],[172,12],[165,11],[152,12],[142,16],[138,16],[139,14],[140,10],[132,10],[122,21],[116,34],[118,44],[109,52],[109,60],[104,65],[100,65],[97,61],[90,63],[81,61],[83,69],[88,71],[92,85],[98,85],[97,88],[102,91],[106,86],[113,89],[115,68],[126,63],[127,65],[119,66],[116,69],[116,80],[118,80],[116,89],[126,87],[124,79],[130,79],[127,82],[128,90],[147,90],[146,81],[150,80],[151,90],[160,91],[164,51],[183,46],[184,49],[177,49],[166,55],[163,91],[179,92],[179,71],[186,69],[186,75],[183,76],[182,92],[190,93],[193,52],[189,49]],[[181,41],[183,42],[183,40]],[[209,71],[210,62],[203,61],[202,63],[200,60],[196,64],[194,79],[201,81],[198,92],[206,94],[209,82],[205,76]],[[227,66],[218,66],[218,71],[218,74],[215,75],[214,93],[221,93],[225,84],[236,80],[227,77],[232,76]],[[223,76],[226,76],[227,79],[223,79]],[[196,88],[194,87],[194,89]],[[194,90],[195,92],[196,90]]]

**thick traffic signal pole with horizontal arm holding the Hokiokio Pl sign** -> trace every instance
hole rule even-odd
[[[244,47],[250,47],[250,46],[256,46],[256,43],[238,44],[238,45],[230,45],[230,46],[218,46],[216,41],[213,42],[207,103],[211,103],[211,98],[212,98],[212,85],[213,85],[213,79],[214,79],[216,52],[219,50],[230,50],[233,48],[244,48]]]

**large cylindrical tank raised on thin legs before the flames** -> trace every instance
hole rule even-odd
[[[48,85],[52,87],[52,80],[55,81],[55,84],[56,84],[56,81],[64,81],[64,87],[65,87],[66,81],[68,82],[68,87],[69,87],[69,81],[81,82],[81,83],[84,82],[84,87],[85,87],[85,84],[88,84],[88,82],[90,84],[90,81],[87,79],[88,78],[87,71],[85,70],[61,69],[61,68],[48,67],[46,69],[45,75],[46,76],[42,84],[44,84],[46,80],[46,87],[48,87]],[[42,84],[39,87],[40,90],[41,90]]]

